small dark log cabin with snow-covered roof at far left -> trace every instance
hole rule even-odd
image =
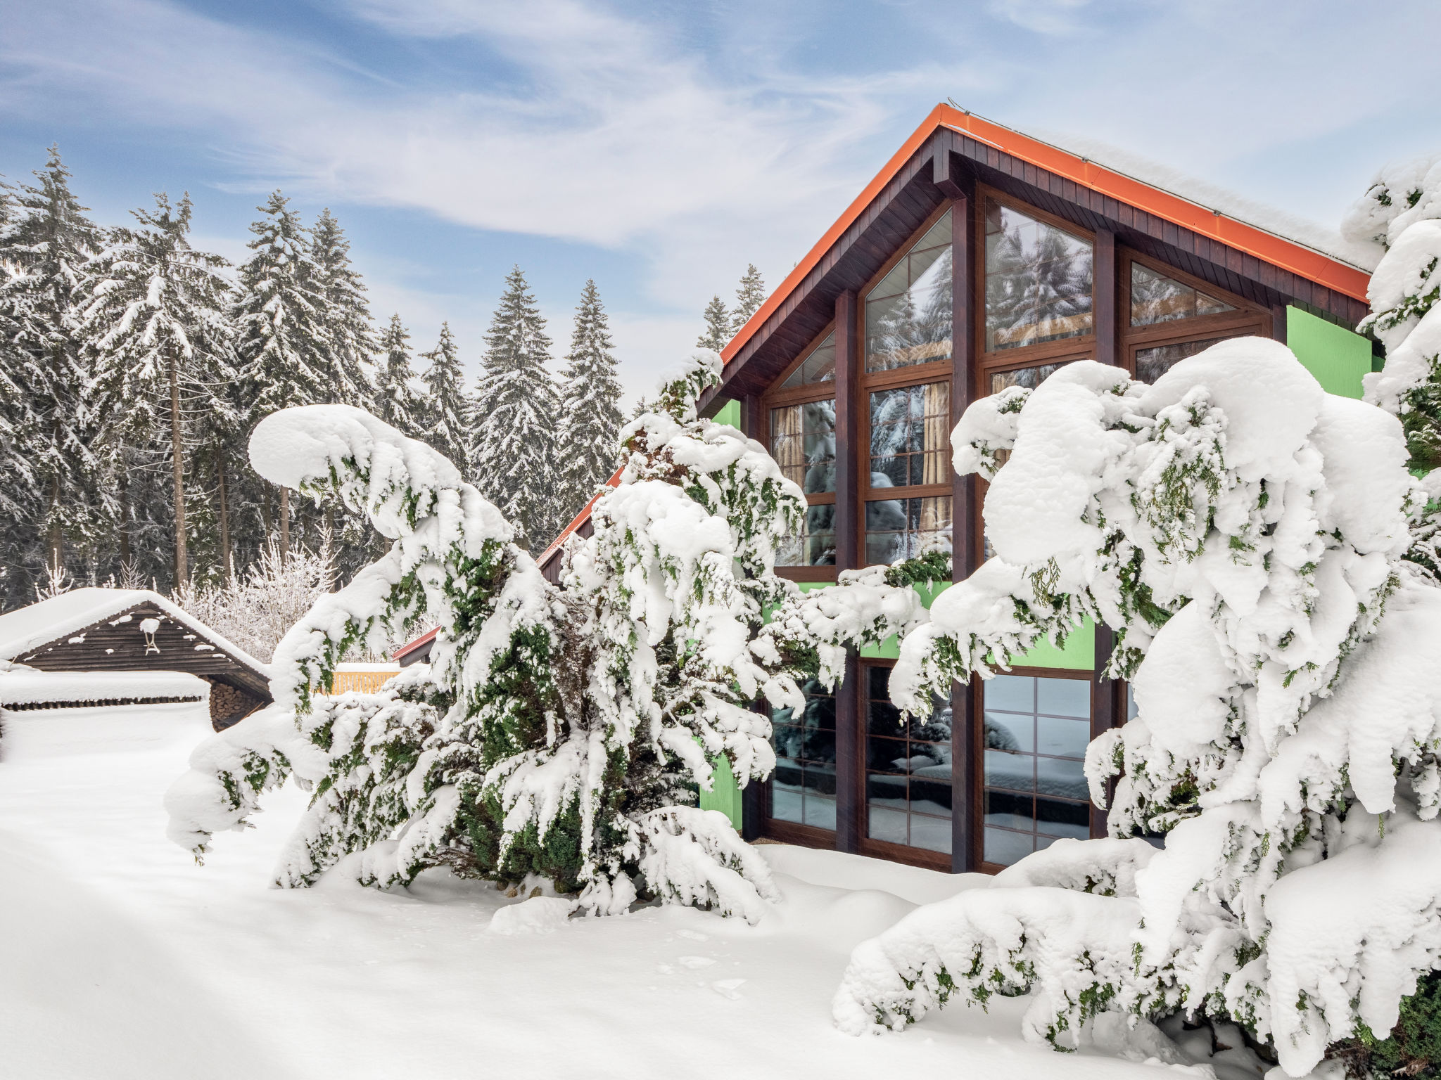
[[[148,589],[72,589],[6,612],[0,615],[0,660],[48,672],[187,672],[210,684],[216,732],[272,700],[265,664]],[[144,687],[130,680],[135,688],[128,697],[107,691],[104,698],[85,694],[62,704],[171,700],[164,691],[169,683],[156,683],[157,693],[143,693]]]

